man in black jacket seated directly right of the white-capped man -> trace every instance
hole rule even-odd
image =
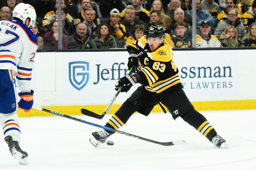
[[[121,24],[125,26],[127,37],[133,34],[133,28],[138,24],[143,24],[145,28],[148,28],[144,21],[135,19],[135,11],[132,7],[129,7],[125,10],[124,20],[121,21]]]

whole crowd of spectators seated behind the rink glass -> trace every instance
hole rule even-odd
[[[196,47],[256,47],[256,0],[195,2]],[[151,25],[163,26],[172,48],[192,47],[192,0],[0,0],[0,20],[19,3],[36,10],[38,49],[58,48],[58,20],[62,49],[125,48]]]

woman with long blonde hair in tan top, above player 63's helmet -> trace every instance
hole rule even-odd
[[[163,4],[160,0],[154,0],[151,5],[151,11],[156,11],[159,14],[160,20],[164,23],[166,27],[171,24],[171,17],[166,15],[163,10]]]

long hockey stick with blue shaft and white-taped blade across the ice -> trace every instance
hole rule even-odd
[[[126,135],[126,136],[130,136],[130,137],[134,137],[134,138],[141,139],[141,140],[144,140],[144,141],[148,141],[148,142],[151,142],[151,143],[154,143],[154,144],[160,144],[160,145],[163,145],[163,146],[172,146],[172,145],[186,144],[186,142],[184,140],[176,140],[176,141],[172,141],[172,142],[157,142],[157,141],[154,141],[154,140],[151,140],[151,139],[147,139],[147,138],[144,138],[144,137],[139,137],[139,136],[136,136],[136,135],[132,135],[130,133],[125,133],[125,132],[122,132],[122,131],[119,131],[119,130],[116,130],[116,129],[112,129],[112,128],[109,128],[109,127],[106,127],[106,126],[102,126],[102,125],[98,125],[98,124],[95,124],[95,123],[87,122],[87,121],[84,121],[84,120],[81,120],[81,119],[77,119],[75,117],[64,115],[62,113],[54,112],[52,110],[48,110],[48,109],[45,109],[43,107],[38,107],[36,105],[33,105],[33,108],[37,109],[37,110],[41,110],[41,111],[47,112],[47,113],[51,113],[53,115],[57,115],[57,116],[61,116],[61,117],[66,117],[68,119],[72,119],[72,120],[77,121],[77,122],[82,122],[82,123],[85,123],[85,124],[88,124],[88,125],[92,125],[92,126],[96,126],[96,127],[105,129],[105,130],[109,130],[111,132],[116,132],[116,133],[120,133],[120,134],[123,134],[123,135]]]

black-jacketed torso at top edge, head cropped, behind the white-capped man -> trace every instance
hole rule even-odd
[[[102,0],[100,2],[100,13],[102,17],[108,17],[110,11],[114,8],[118,11],[123,11],[125,6],[121,0]]]

